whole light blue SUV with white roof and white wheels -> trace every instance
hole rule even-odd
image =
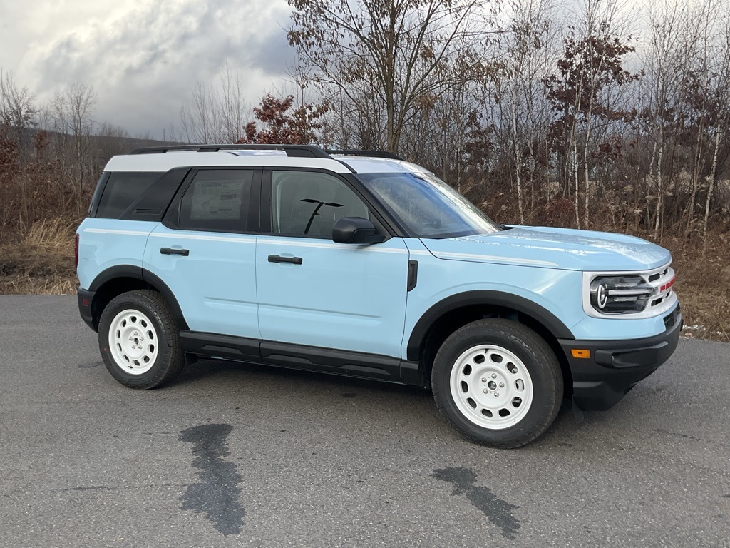
[[[80,313],[122,384],[196,357],[413,384],[499,447],[564,397],[610,408],[672,354],[671,262],[636,237],[500,226],[423,167],[308,145],[115,156],[77,231]]]

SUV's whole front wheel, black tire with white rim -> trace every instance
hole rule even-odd
[[[472,441],[504,449],[529,444],[545,432],[560,410],[564,389],[548,343],[523,324],[499,318],[453,332],[436,354],[431,384],[450,425]]]

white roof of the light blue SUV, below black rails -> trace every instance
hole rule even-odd
[[[286,156],[284,151],[169,151],[165,153],[126,154],[114,156],[107,162],[104,171],[147,171],[166,172],[174,167],[187,166],[250,166],[250,167],[305,167],[329,170],[335,173],[350,173],[342,160],[358,173],[415,172],[428,170],[402,160],[347,156],[333,154],[334,159],[301,158]]]

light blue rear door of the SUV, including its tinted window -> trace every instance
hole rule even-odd
[[[193,170],[164,224],[150,234],[145,268],[158,275],[193,331],[260,339],[255,247],[261,171]]]

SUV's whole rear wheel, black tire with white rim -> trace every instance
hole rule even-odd
[[[110,339],[110,330],[118,316],[118,330],[114,334],[118,342],[115,343]],[[121,330],[134,331],[122,337]],[[133,340],[135,334],[139,339]],[[126,345],[127,339],[130,345],[139,346],[131,350],[128,346],[123,348],[120,343]],[[111,300],[99,320],[99,350],[112,377],[126,387],[139,390],[172,381],[185,365],[180,327],[162,295],[155,291],[131,291]]]

